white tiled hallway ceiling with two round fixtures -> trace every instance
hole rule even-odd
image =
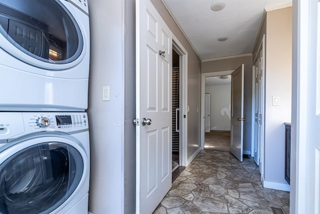
[[[210,6],[224,2],[214,12]],[[200,60],[251,54],[266,11],[288,7],[292,0],[162,0]],[[219,42],[219,37],[228,40]]]

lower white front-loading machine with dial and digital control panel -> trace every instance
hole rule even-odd
[[[87,214],[84,112],[0,112],[0,213]]]

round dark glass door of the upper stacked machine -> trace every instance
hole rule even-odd
[[[61,70],[78,63],[83,37],[58,0],[1,0],[0,47],[32,66]]]

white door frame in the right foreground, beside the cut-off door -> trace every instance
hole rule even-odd
[[[309,136],[308,76],[311,51],[309,36],[311,1],[292,1],[292,106],[291,106],[291,156],[290,156],[290,213],[306,213],[307,207],[307,149]],[[314,53],[314,52],[313,52]]]

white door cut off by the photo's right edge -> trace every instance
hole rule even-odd
[[[307,99],[306,213],[320,213],[320,2],[309,2],[309,55]],[[304,3],[304,2],[303,2]],[[307,4],[307,3],[306,3]],[[316,45],[315,45],[316,44]],[[316,48],[315,48],[316,47]],[[305,72],[301,70],[300,72]],[[302,77],[301,77],[302,79]],[[301,96],[301,95],[300,95]],[[300,98],[301,99],[301,98]],[[304,116],[304,115],[303,115]],[[302,132],[302,131],[301,131]],[[301,145],[302,147],[302,145]],[[292,163],[292,161],[291,161]],[[301,165],[299,166],[301,167]],[[302,168],[302,167],[301,167]],[[298,172],[299,170],[297,170]],[[290,176],[292,177],[292,176]],[[300,181],[301,182],[301,181]],[[302,181],[303,182],[303,181]]]

